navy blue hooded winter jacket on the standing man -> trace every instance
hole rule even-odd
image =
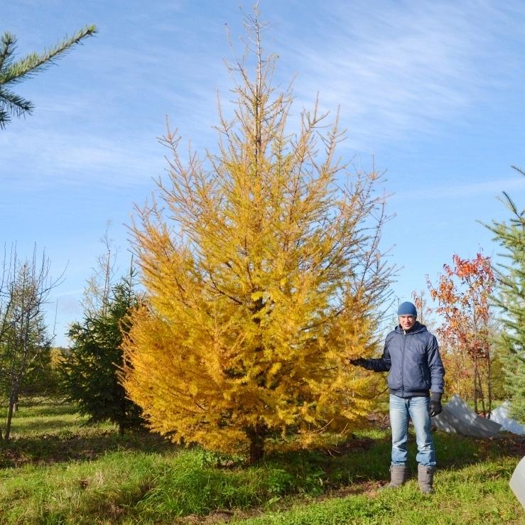
[[[390,372],[388,384],[394,396],[428,396],[429,391],[443,394],[445,369],[438,341],[418,321],[406,332],[398,325],[386,336],[383,356],[367,359],[364,367]]]

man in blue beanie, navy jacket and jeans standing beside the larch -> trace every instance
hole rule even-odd
[[[412,420],[418,445],[418,482],[421,492],[433,492],[435,451],[431,417],[441,412],[445,369],[438,342],[418,323],[416,306],[401,303],[399,325],[386,336],[379,359],[350,359],[350,363],[374,372],[389,372],[390,426],[392,430],[391,481],[389,488],[406,482],[408,421]]]

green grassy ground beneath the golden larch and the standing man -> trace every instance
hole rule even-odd
[[[436,492],[424,497],[414,479],[378,492],[389,468],[384,430],[244,467],[239,458],[83,423],[67,404],[21,407],[13,441],[0,446],[0,523],[525,524],[509,489],[523,438],[436,433]],[[414,455],[411,443],[411,472]]]

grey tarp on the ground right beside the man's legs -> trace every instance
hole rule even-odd
[[[460,396],[452,396],[443,412],[432,418],[433,425],[441,431],[470,435],[474,438],[494,438],[502,426],[495,421],[478,416]]]

